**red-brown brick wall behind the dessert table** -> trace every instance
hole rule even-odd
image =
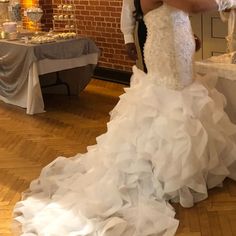
[[[25,7],[30,0],[22,0]],[[52,27],[52,0],[34,0],[44,9],[43,28]],[[27,3],[27,4],[26,4]],[[61,0],[58,0],[58,4]],[[130,71],[134,64],[126,55],[120,31],[122,0],[75,0],[78,34],[92,38],[101,49],[99,66]],[[56,7],[56,6],[54,6]]]

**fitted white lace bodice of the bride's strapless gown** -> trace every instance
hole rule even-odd
[[[150,78],[173,89],[190,84],[195,42],[188,15],[164,4],[147,13],[144,21],[148,32],[144,58]]]

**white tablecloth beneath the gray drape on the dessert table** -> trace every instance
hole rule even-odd
[[[0,100],[26,108],[27,114],[36,114],[44,112],[44,102],[39,83],[39,75],[68,70],[86,65],[96,65],[98,62],[98,53],[83,55],[79,58],[50,60],[44,59],[34,62],[28,73],[22,89],[12,98],[0,96]]]

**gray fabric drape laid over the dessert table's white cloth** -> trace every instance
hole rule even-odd
[[[40,45],[0,41],[0,95],[15,96],[28,78],[33,62],[43,59],[70,59],[97,53],[88,38],[78,38]]]

